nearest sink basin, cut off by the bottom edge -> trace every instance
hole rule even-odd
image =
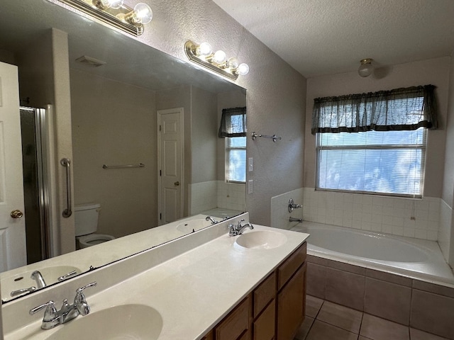
[[[46,340],[155,340],[162,330],[162,317],[153,307],[118,305],[79,316],[57,328]]]

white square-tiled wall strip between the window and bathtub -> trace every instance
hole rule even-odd
[[[304,188],[303,220],[436,241],[441,205],[441,198],[435,197],[394,198]]]

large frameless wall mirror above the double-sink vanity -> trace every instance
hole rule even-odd
[[[18,67],[26,203],[25,235],[4,239],[26,247],[26,259],[1,263],[2,300],[18,287],[41,288],[31,278],[37,268],[50,285],[206,227],[206,215],[245,211],[246,138],[218,137],[223,109],[245,108],[244,89],[48,1],[4,0],[1,16],[0,62]],[[52,68],[55,53],[67,55],[69,74]],[[61,81],[69,83],[71,123],[67,135],[52,135]],[[55,208],[46,179],[55,176],[52,152],[62,142],[72,145],[71,237],[82,249],[47,259],[58,254],[56,235],[65,237],[46,215]],[[189,227],[178,222],[193,215]],[[150,228],[159,232],[154,239],[93,256],[108,239]]]

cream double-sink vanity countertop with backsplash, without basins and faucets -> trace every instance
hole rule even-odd
[[[248,218],[248,214],[238,220],[242,218]],[[254,227],[255,231],[276,230]],[[219,223],[10,302],[2,307],[5,340],[42,340],[50,336],[58,327],[40,330],[42,314],[32,317],[28,310],[51,299],[72,298],[75,289],[94,280],[98,285],[86,292],[92,312],[114,305],[149,305],[160,312],[164,321],[159,339],[201,339],[309,236],[279,232],[287,236],[282,246],[244,249],[236,246],[236,237],[228,237],[226,225]]]

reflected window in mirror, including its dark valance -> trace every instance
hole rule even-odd
[[[222,110],[219,138],[226,138],[226,181],[246,181],[246,108]]]

